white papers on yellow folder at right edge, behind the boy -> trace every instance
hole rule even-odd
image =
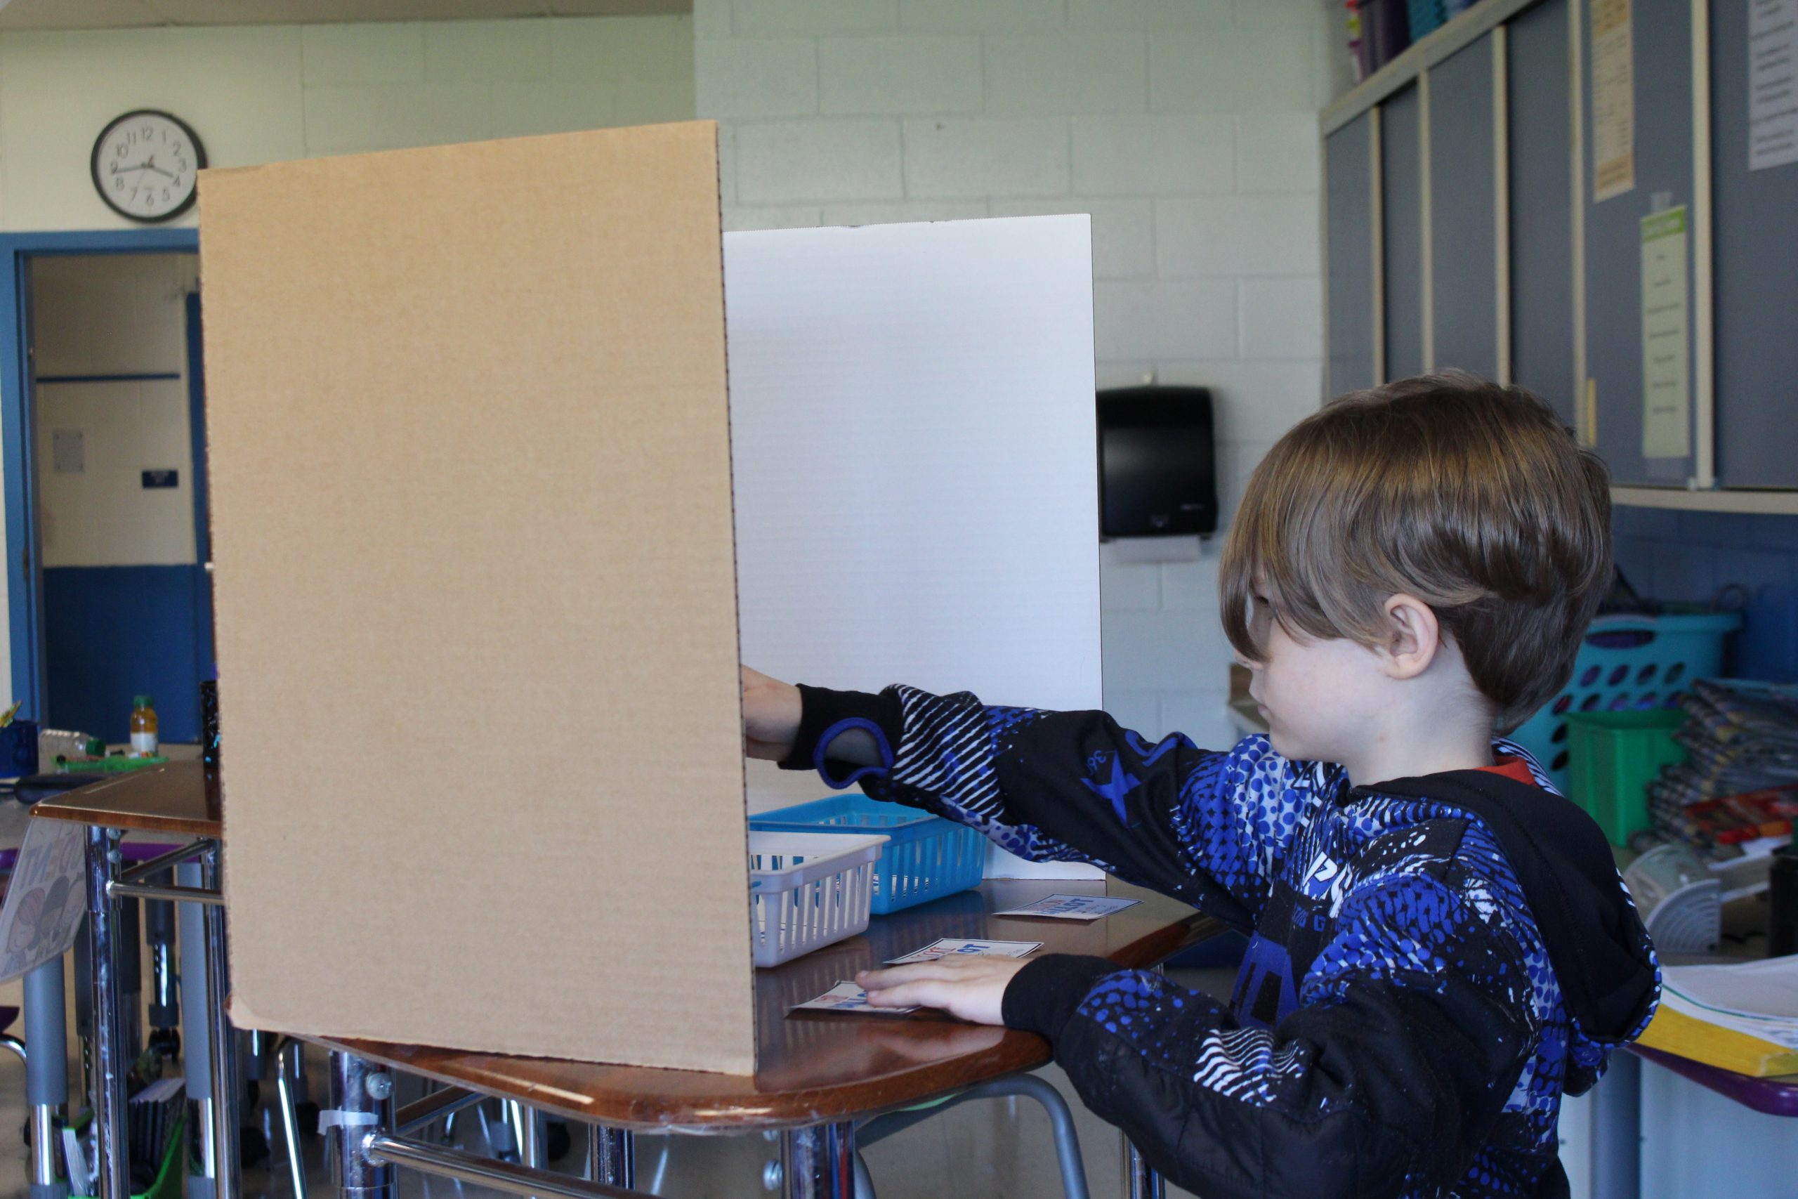
[[[1642,1043],[1744,1075],[1798,1073],[1798,955],[1665,967]]]

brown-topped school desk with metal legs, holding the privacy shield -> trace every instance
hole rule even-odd
[[[994,915],[1052,893],[1104,890],[1104,883],[989,881],[973,892],[874,917],[861,937],[757,971],[761,1066],[753,1077],[466,1053],[297,1030],[300,1039],[331,1050],[340,1194],[392,1199],[397,1194],[394,1167],[403,1165],[516,1194],[617,1197],[633,1183],[635,1132],[762,1131],[782,1141],[779,1172],[786,1195],[847,1197],[852,1194],[858,1118],[1036,1070],[1050,1061],[1048,1043],[931,1010],[910,1016],[788,1016],[788,1010],[840,980],[852,980],[856,971],[939,937],[1039,940],[1043,947],[1036,955],[1100,955],[1120,967],[1147,969],[1223,931],[1185,904],[1142,892],[1131,895],[1142,895],[1144,902],[1090,924]],[[439,1091],[396,1115],[387,1070],[457,1089]],[[595,1125],[590,1179],[550,1174],[530,1163],[493,1161],[403,1134],[405,1127],[423,1124],[430,1109],[448,1111],[466,1093],[518,1100]],[[1160,1195],[1160,1177],[1127,1143],[1126,1159],[1129,1194]]]

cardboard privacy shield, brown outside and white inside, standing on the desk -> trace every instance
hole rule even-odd
[[[732,430],[710,122],[200,196],[234,1017],[753,1070],[739,564],[764,669],[1095,705],[1084,219],[732,235]]]

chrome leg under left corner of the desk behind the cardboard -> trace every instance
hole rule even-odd
[[[108,884],[119,877],[119,834],[88,829],[88,956],[93,973],[93,1129],[99,1199],[131,1199],[124,1145],[124,1061],[119,1026],[117,906]]]

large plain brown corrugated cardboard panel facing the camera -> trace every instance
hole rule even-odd
[[[714,126],[200,196],[236,1017],[750,1071]]]

